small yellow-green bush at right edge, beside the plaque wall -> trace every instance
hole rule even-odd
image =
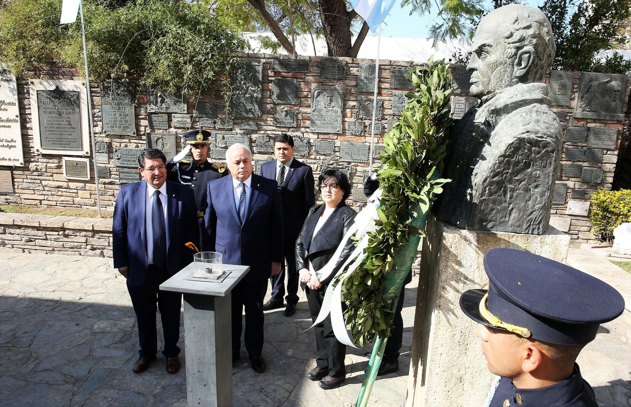
[[[613,229],[631,222],[631,190],[596,190],[591,198],[589,217],[603,241],[613,241]]]

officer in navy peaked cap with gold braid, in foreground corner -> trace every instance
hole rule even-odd
[[[624,309],[622,295],[575,268],[516,249],[484,256],[488,290],[468,290],[460,307],[478,322],[488,370],[500,376],[490,407],[596,407],[576,358],[601,323]]]

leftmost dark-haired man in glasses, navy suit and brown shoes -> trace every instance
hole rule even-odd
[[[167,372],[180,367],[180,305],[182,294],[161,291],[160,284],[192,261],[184,246],[198,243],[197,210],[192,189],[167,181],[167,158],[158,149],[138,156],[143,180],[121,186],[114,207],[114,267],[127,278],[127,290],[138,319],[139,358],[136,373],[147,369],[158,352],[156,302],[164,331]]]

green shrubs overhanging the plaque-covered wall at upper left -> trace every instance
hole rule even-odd
[[[196,94],[225,76],[246,47],[203,5],[119,3],[83,3],[88,69],[97,81],[141,76],[141,83],[164,91]],[[61,0],[15,0],[1,9],[0,58],[11,71],[20,74],[50,59],[83,70],[81,23],[60,26],[60,11]]]

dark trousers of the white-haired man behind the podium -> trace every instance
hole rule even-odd
[[[245,350],[248,355],[261,355],[263,350],[263,298],[268,280],[247,282],[241,280],[232,290],[232,353],[241,349],[242,315],[245,307]]]

